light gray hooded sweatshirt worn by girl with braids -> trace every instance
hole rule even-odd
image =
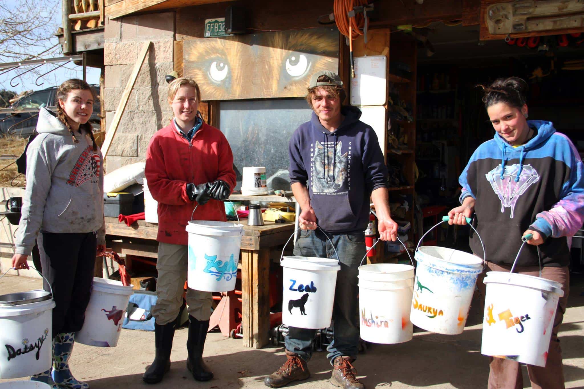
[[[36,138],[26,150],[26,192],[16,253],[30,255],[40,232],[96,232],[105,244],[103,157],[88,134],[73,142],[57,116],[40,108]],[[64,248],[65,249],[65,248]]]

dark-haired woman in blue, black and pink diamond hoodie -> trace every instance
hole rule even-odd
[[[572,142],[555,131],[549,121],[527,120],[520,78],[498,79],[483,86],[483,101],[495,136],[472,154],[459,178],[463,187],[461,206],[449,212],[450,224],[464,225],[475,214],[477,230],[485,243],[485,272],[509,272],[522,244],[521,237],[533,234],[517,260],[521,274],[539,275],[562,284],[545,367],[527,365],[533,388],[564,388],[562,351],[558,329],[568,300],[571,237],[584,220],[582,160]],[[470,240],[473,253],[482,255],[478,237]],[[489,388],[521,388],[519,362],[490,358]]]

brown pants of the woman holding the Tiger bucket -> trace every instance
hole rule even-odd
[[[482,282],[486,272],[509,272],[511,265],[496,265],[486,262],[486,269],[479,275],[477,286],[481,292],[482,305],[485,306],[486,285]],[[516,267],[520,274],[538,276],[539,266]],[[562,324],[569,293],[569,271],[568,267],[543,267],[541,277],[556,281],[562,284],[564,297],[558,301],[558,310],[555,314],[554,327],[552,328],[550,339],[550,350],[545,367],[527,365],[527,373],[533,389],[564,389],[564,370],[562,369],[562,348],[559,346],[558,330]],[[523,375],[519,362],[510,359],[489,357],[489,389],[520,389],[523,388]]]

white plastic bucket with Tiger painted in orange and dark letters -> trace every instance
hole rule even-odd
[[[481,353],[545,367],[559,282],[525,274],[488,272]]]

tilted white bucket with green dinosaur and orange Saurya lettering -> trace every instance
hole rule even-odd
[[[447,247],[422,246],[412,297],[412,323],[426,331],[456,335],[464,331],[483,261]]]

